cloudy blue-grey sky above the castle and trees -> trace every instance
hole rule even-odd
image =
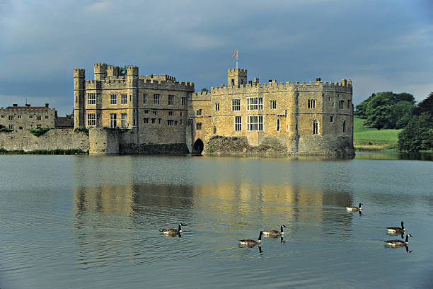
[[[248,79],[352,79],[353,102],[377,91],[433,91],[432,0],[0,0],[0,106],[74,108],[74,68],[137,65],[196,91]]]

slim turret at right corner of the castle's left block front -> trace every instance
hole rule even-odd
[[[139,69],[136,66],[127,67],[128,123],[132,128],[139,128],[138,121],[138,79]],[[138,134],[137,134],[138,135]]]

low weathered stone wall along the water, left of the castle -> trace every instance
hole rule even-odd
[[[28,130],[13,132],[0,132],[0,148],[7,151],[23,150],[54,150],[54,149],[81,149],[88,151],[88,136],[84,132],[73,130],[52,129],[36,137]]]

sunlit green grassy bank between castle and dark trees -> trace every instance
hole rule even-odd
[[[376,130],[364,126],[364,120],[353,120],[353,145],[357,152],[396,152],[401,130]]]

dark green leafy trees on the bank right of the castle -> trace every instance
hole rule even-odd
[[[405,92],[371,94],[357,105],[354,115],[364,119],[369,128],[403,128],[398,134],[400,151],[433,149],[433,92],[417,105],[412,94]]]

